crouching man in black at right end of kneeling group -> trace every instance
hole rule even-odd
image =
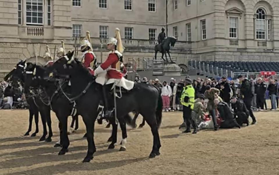
[[[234,118],[237,123],[242,126],[243,123],[249,125],[249,111],[247,110],[243,101],[237,99],[236,97],[232,97],[232,109],[234,110]]]

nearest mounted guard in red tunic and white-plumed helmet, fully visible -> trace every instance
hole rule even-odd
[[[131,90],[134,87],[134,82],[126,80],[120,71],[124,48],[118,28],[115,29],[115,38],[109,38],[107,48],[110,50],[110,53],[106,61],[95,69],[95,75],[97,75],[96,82],[103,85],[103,95],[106,106],[105,118],[109,118],[113,112],[113,110],[109,109],[110,106],[108,102],[109,92],[112,87],[118,86],[126,90]]]

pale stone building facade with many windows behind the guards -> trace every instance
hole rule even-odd
[[[74,49],[87,30],[101,62],[101,44],[116,27],[126,62],[152,59],[162,27],[177,37],[172,56],[184,68],[190,59],[279,60],[278,7],[279,0],[0,0],[0,78],[19,59],[44,62],[46,45],[52,54],[61,40]]]

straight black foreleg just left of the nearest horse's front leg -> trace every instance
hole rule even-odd
[[[64,155],[68,152],[68,147],[70,145],[70,141],[67,134],[67,125],[68,125],[68,115],[61,115],[60,118],[60,124],[61,124],[61,135],[60,135],[60,144],[62,146],[62,149],[59,151],[58,155]]]

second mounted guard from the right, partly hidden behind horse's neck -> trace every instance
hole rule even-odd
[[[80,43],[80,51],[83,53],[81,62],[83,62],[83,66],[89,70],[90,74],[94,75],[94,70],[90,67],[90,64],[93,62],[93,67],[95,67],[97,59],[92,50],[90,32],[86,31],[86,37]]]

